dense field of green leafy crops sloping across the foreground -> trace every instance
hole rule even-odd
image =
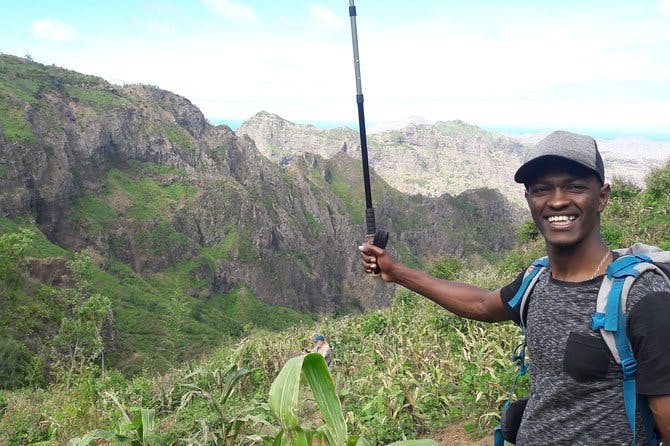
[[[514,374],[507,354],[518,339],[516,327],[460,320],[406,291],[388,310],[324,320],[318,331],[326,334],[335,351],[333,385],[346,429],[370,444],[430,438],[431,432],[463,419],[469,420],[474,435],[481,435]],[[253,332],[203,362],[154,378],[127,380],[108,372],[93,382],[81,378],[69,391],[54,387],[49,397],[39,390],[13,392],[0,422],[0,439],[14,441],[20,437],[12,432],[31,432],[35,441],[63,442],[93,429],[120,435],[116,420],[124,419],[127,408],[141,407],[154,411],[160,438],[156,444],[189,439],[205,444],[205,432],[222,432],[233,420],[239,431],[231,444],[261,444],[259,437],[286,432],[280,429],[280,416],[268,411],[264,402],[286,360],[314,332],[301,325],[278,333]],[[232,364],[249,373],[223,398],[223,376]],[[306,396],[296,409],[300,426],[323,432],[316,395],[313,399],[307,389],[301,392]],[[79,414],[69,428],[53,429],[55,421],[50,420],[60,420],[53,414],[65,399],[79,408]],[[23,417],[16,412],[19,408]]]

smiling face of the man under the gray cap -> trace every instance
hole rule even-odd
[[[528,182],[526,201],[547,245],[568,247],[600,231],[600,213],[609,198],[609,185],[573,165],[545,167]]]

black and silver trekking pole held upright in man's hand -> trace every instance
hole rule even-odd
[[[358,54],[358,32],[356,29],[356,6],[354,5],[354,0],[349,0],[349,17],[351,19],[351,40],[354,47],[358,129],[361,136],[361,160],[363,162],[363,185],[365,186],[365,241],[379,246],[380,248],[384,248],[388,242],[388,232],[376,229],[375,210],[372,207],[372,188],[370,187],[370,167],[368,164],[368,139],[365,134],[365,112],[363,110],[363,88],[361,87],[361,66]],[[375,271],[375,273],[379,273],[379,271]]]

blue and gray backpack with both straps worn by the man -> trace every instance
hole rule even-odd
[[[600,331],[616,363],[621,366],[624,406],[628,424],[633,434],[633,441],[630,446],[636,446],[635,413],[638,406],[644,422],[647,441],[650,446],[658,446],[660,440],[654,429],[654,420],[647,400],[635,391],[637,362],[633,357],[630,342],[626,335],[625,308],[628,292],[635,280],[645,271],[656,271],[670,284],[670,251],[636,243],[630,248],[616,249],[614,252],[619,254],[619,257],[608,266],[607,274],[603,278],[603,283],[598,291],[591,328],[594,331]],[[517,380],[525,375],[528,370],[528,365],[525,363],[526,327],[524,312],[533,287],[548,267],[549,259],[547,257],[532,262],[524,274],[519,290],[507,304],[512,309],[519,309],[524,340],[514,349],[512,355],[512,360],[519,367],[519,371],[510,390],[510,398],[503,406],[501,422],[494,432],[494,446],[503,446],[505,441],[514,444],[516,441],[516,433],[521,422],[525,402],[523,400],[512,402],[512,394]]]

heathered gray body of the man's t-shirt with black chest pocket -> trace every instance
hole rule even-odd
[[[591,329],[601,283],[602,276],[571,283],[545,272],[535,285],[526,324],[531,396],[518,446],[630,445],[621,368],[600,333]],[[643,274],[631,289],[628,311],[654,291],[670,288],[657,274]],[[518,312],[513,319],[518,322]],[[646,445],[639,417],[636,429],[637,444]]]

